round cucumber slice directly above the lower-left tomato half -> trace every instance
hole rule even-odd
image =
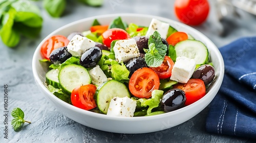
[[[71,94],[72,90],[78,86],[91,83],[91,77],[88,70],[77,64],[63,66],[59,70],[58,79],[62,90],[68,94]]]

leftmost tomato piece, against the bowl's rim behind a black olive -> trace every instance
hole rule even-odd
[[[41,46],[41,56],[42,58],[48,59],[50,57],[50,54],[54,49],[57,49],[62,46],[67,46],[69,43],[69,40],[67,37],[62,35],[55,35],[46,40],[42,46]]]

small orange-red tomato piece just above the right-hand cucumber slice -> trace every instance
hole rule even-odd
[[[179,41],[187,40],[188,36],[184,32],[175,32],[170,35],[166,41],[168,44],[175,46]]]

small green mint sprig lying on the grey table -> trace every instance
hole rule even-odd
[[[14,117],[11,122],[14,131],[20,130],[25,122],[31,124],[31,122],[24,120],[24,112],[20,108],[14,108],[11,112],[11,115]]]

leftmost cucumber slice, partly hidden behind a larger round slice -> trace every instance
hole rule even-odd
[[[59,70],[58,69],[51,69],[46,73],[46,83],[48,85],[52,85],[55,88],[59,88]]]

